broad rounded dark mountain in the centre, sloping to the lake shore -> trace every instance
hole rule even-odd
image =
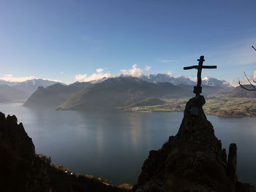
[[[151,83],[137,77],[109,78],[75,94],[59,110],[124,107],[148,97],[189,96],[189,90],[169,82]]]

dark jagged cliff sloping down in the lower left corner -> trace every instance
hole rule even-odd
[[[0,191],[128,191],[87,175],[76,175],[34,152],[32,139],[15,115],[0,112]]]

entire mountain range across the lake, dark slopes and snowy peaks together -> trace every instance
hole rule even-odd
[[[6,83],[7,85],[1,85]],[[230,93],[233,87],[225,80],[206,77],[203,95]],[[0,81],[0,102],[25,101],[26,107],[58,107],[59,110],[124,107],[148,98],[182,98],[193,96],[195,82],[189,77],[148,74],[138,77],[119,76],[70,85],[49,80],[24,82]]]

